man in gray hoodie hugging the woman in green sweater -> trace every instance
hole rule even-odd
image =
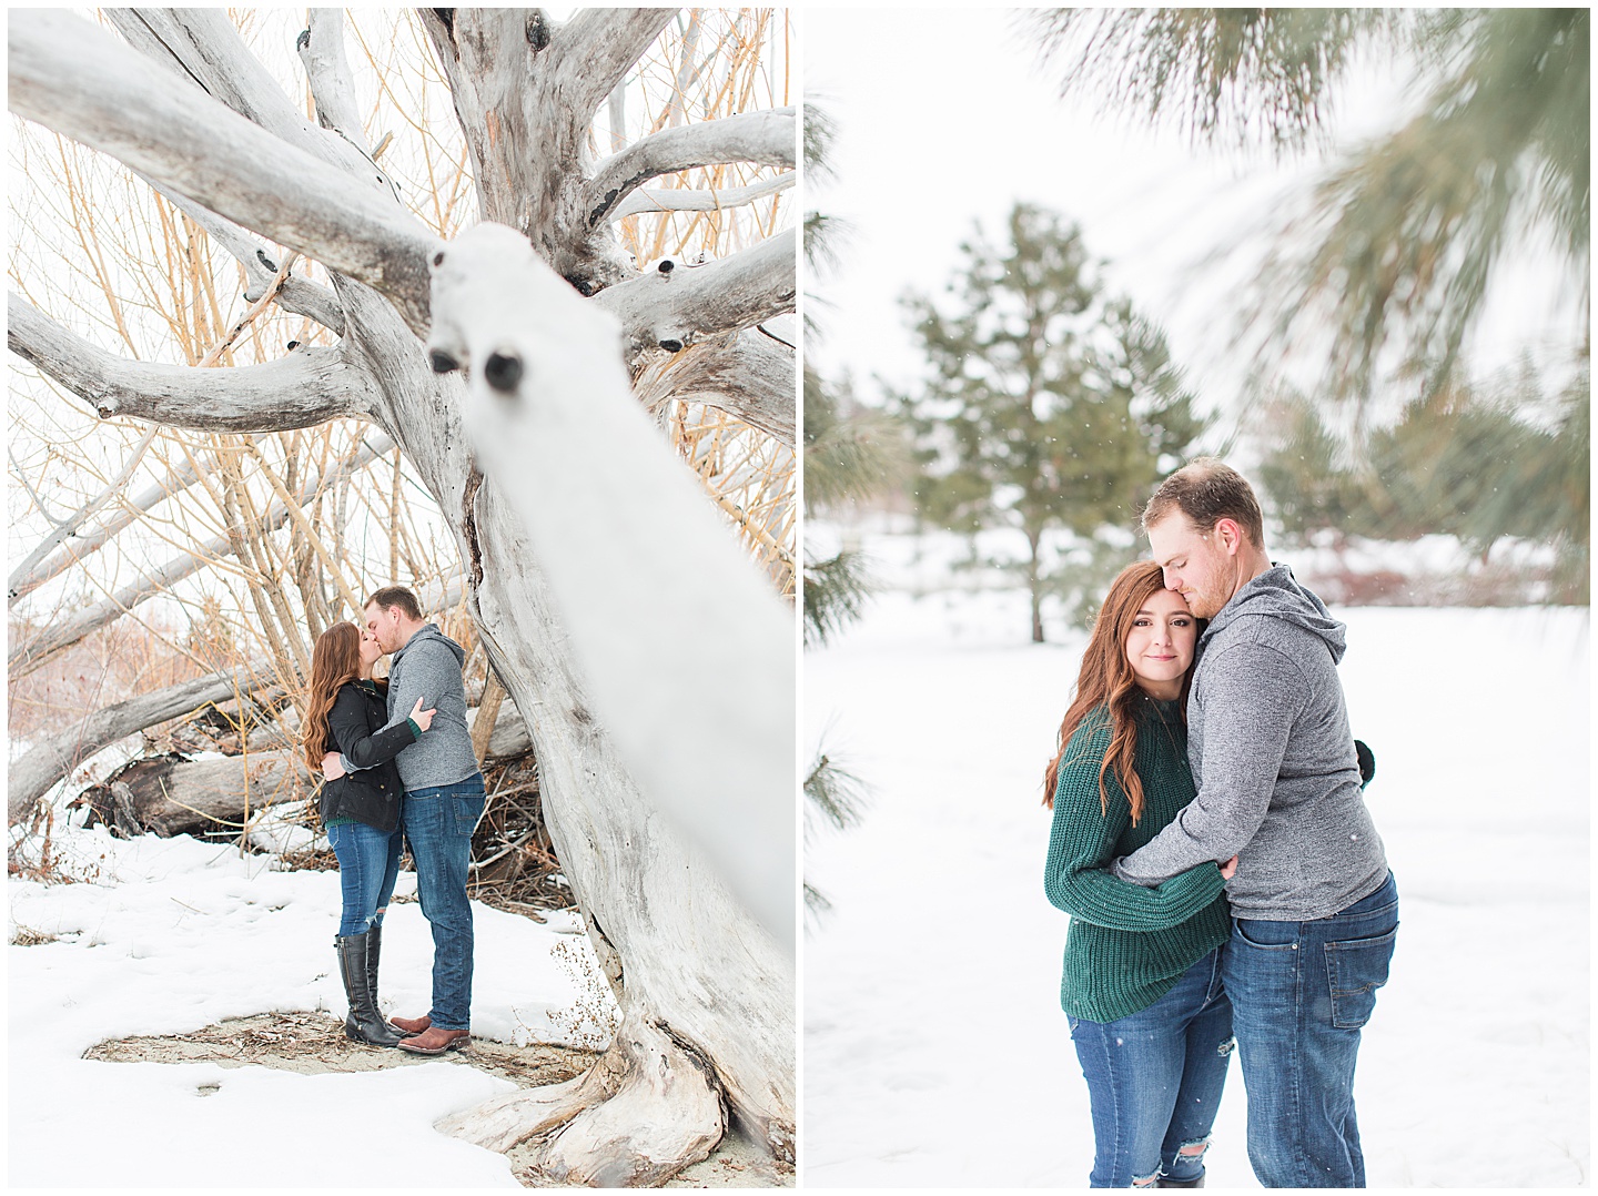
[[[1143,514],[1168,589],[1210,620],[1187,699],[1198,794],[1112,865],[1157,886],[1238,857],[1222,952],[1248,1089],[1248,1156],[1272,1188],[1363,1188],[1360,1027],[1387,982],[1398,893],[1360,792],[1336,664],[1344,626],[1272,565],[1248,482],[1213,458]]]

